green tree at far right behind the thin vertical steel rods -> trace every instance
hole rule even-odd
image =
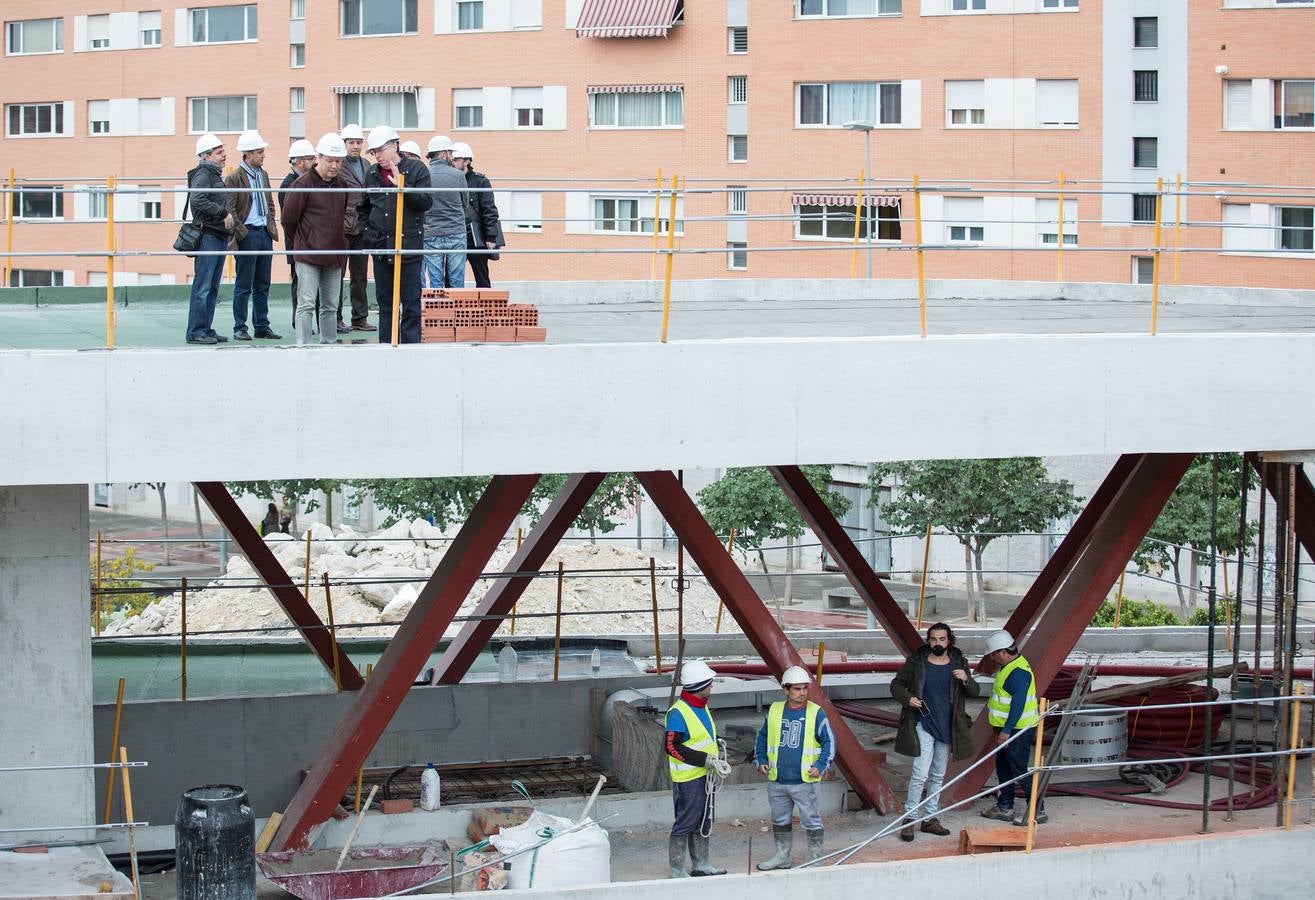
[[[1173,571],[1178,591],[1178,613],[1186,620],[1197,609],[1198,558],[1210,554],[1210,454],[1191,461],[1178,487],[1169,496],[1155,525],[1147,533],[1132,561],[1143,572],[1152,567]],[[1219,454],[1219,514],[1216,520],[1216,553],[1237,553],[1237,520],[1241,517],[1241,479],[1245,474],[1248,488],[1256,487],[1255,470],[1237,453]],[[1247,522],[1243,546],[1256,534],[1256,522]],[[1184,589],[1184,551],[1189,557],[1187,586]]]

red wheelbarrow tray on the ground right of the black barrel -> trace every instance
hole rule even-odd
[[[381,897],[418,887],[447,868],[431,846],[362,847],[338,864],[338,850],[258,853],[267,879],[301,900]]]

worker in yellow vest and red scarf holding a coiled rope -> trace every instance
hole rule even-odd
[[[671,796],[676,821],[667,842],[672,878],[685,878],[685,849],[693,861],[690,875],[725,875],[707,858],[707,838],[713,830],[714,789],[709,789],[709,770],[718,776],[730,774],[721,758],[717,725],[707,711],[714,672],[705,662],[688,662],[680,670],[680,697],[667,711],[667,763],[671,768]]]

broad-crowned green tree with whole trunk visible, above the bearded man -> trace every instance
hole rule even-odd
[[[1044,532],[1081,508],[1066,483],[1051,480],[1040,457],[878,463],[872,474],[872,503],[892,476],[898,491],[882,504],[882,517],[903,534],[923,534],[930,525],[959,539],[974,622],[986,617],[986,546],[1003,534]]]

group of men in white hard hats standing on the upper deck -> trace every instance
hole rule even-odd
[[[409,145],[409,146],[408,146]],[[224,343],[214,330],[224,259],[235,254],[233,338],[281,338],[270,324],[270,280],[274,243],[279,239],[274,193],[264,172],[268,143],[258,132],[237,141],[241,164],[227,175],[224,142],[214,134],[196,141],[197,164],[188,172],[191,221],[201,241],[188,304],[188,343]],[[373,163],[362,158],[367,150]],[[471,163],[467,143],[435,136],[426,166],[419,147],[405,143],[388,125],[368,136],[359,125],[330,132],[312,145],[295,141],[288,151],[292,171],[279,187],[285,246],[292,264],[293,329],[297,343],[334,343],[341,332],[379,332],[392,339],[394,251],[401,255],[398,341],[418,343],[419,293],[430,287],[464,287],[468,250],[476,284],[489,287],[488,259],[502,246],[492,184]],[[402,192],[401,242],[397,245],[397,193]],[[433,186],[433,191],[429,191]],[[187,211],[184,211],[187,218]],[[366,254],[375,259],[379,328],[368,321]],[[429,250],[431,253],[421,253]],[[423,274],[422,274],[423,272]],[[343,320],[342,289],[350,274],[351,322]],[[250,307],[251,326],[247,326]],[[318,313],[317,313],[318,311]],[[318,320],[318,321],[317,321]]]

